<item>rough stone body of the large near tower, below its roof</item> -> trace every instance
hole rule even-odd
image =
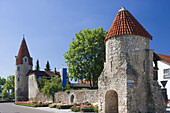
[[[105,95],[110,90],[118,95],[117,112],[135,113],[139,108],[146,110],[143,99],[146,97],[143,85],[145,83],[142,83],[142,80],[145,81],[143,62],[145,50],[148,48],[149,39],[142,36],[122,35],[106,41],[106,64],[98,82],[99,112],[111,112],[106,108],[117,107],[109,106],[109,102],[105,101],[108,98]],[[129,81],[132,82],[132,86],[128,86]],[[141,91],[144,92],[142,95],[139,94]]]

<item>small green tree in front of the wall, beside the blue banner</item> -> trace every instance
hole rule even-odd
[[[41,92],[48,97],[52,97],[54,102],[54,94],[62,89],[61,78],[52,77],[50,80],[45,81],[44,87]]]

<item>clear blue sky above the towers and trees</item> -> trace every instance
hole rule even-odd
[[[124,6],[153,36],[150,48],[170,54],[169,0],[0,0],[0,76],[15,73],[15,56],[25,35],[41,70],[66,67],[63,54],[75,33],[86,28],[109,30]]]

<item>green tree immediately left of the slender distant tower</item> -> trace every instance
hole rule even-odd
[[[5,96],[3,98],[14,98],[15,97],[15,76],[14,75],[9,75],[7,77],[6,83],[3,85],[3,90],[2,90],[2,96]],[[6,96],[8,95],[8,96]]]

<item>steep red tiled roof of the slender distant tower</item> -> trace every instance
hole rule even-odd
[[[19,52],[18,52],[16,64],[23,64],[23,58],[25,56],[28,57],[29,65],[33,65],[32,64],[32,59],[30,57],[30,54],[29,54],[29,51],[28,51],[28,48],[27,48],[27,44],[25,42],[25,39],[23,38],[22,42],[21,42],[21,46],[20,46]]]

